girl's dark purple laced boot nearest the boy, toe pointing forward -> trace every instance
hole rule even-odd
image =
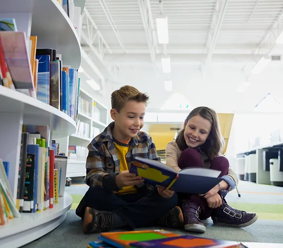
[[[197,203],[189,200],[183,201],[184,229],[190,232],[204,233],[206,226],[200,220],[201,209]]]

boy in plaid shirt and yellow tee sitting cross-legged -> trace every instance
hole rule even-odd
[[[151,137],[140,131],[147,101],[148,96],[132,86],[111,95],[114,122],[88,145],[85,181],[90,187],[76,209],[85,233],[183,226],[174,191],[150,189],[141,177],[129,173],[136,156],[159,160]]]

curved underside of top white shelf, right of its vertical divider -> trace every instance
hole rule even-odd
[[[76,30],[57,0],[35,0],[31,35],[37,36],[37,48],[57,49],[64,65],[78,68],[81,60]]]

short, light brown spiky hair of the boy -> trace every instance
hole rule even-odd
[[[136,101],[138,103],[147,103],[149,96],[141,93],[133,86],[125,85],[111,94],[111,107],[120,111],[127,102]]]

